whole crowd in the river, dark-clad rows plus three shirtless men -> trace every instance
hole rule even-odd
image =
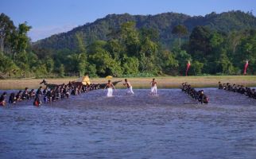
[[[120,81],[117,81],[117,83]],[[10,97],[8,103],[17,103],[24,100],[33,99],[33,105],[39,106],[41,105],[41,99],[43,99],[44,103],[52,103],[60,99],[69,98],[69,95],[80,95],[81,93],[85,93],[87,91],[97,90],[100,88],[107,88],[107,96],[110,97],[113,95],[113,89],[115,89],[114,84],[111,83],[111,80],[108,80],[107,84],[83,84],[80,82],[69,82],[68,84],[48,84],[45,80],[42,82],[45,83],[45,88],[39,87],[36,90],[29,90],[28,87],[25,87],[24,91],[18,91],[17,93],[10,93]],[[125,79],[125,83],[123,85],[127,88],[126,94],[134,95],[134,91],[130,82]],[[150,95],[157,95],[157,82],[153,79],[150,82],[151,92]],[[196,91],[195,88],[191,87],[188,83],[181,83],[181,90],[190,95],[193,99],[196,99],[200,103],[208,103],[208,96],[204,94],[204,90]],[[230,84],[230,83],[221,83],[219,82],[219,89],[233,91],[241,93],[242,95],[247,95],[250,98],[256,99],[256,91],[254,88],[244,87],[242,85]],[[6,96],[7,93],[4,91],[0,96],[0,106],[6,105]]]

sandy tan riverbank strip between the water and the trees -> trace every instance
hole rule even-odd
[[[156,76],[156,77],[130,77],[126,78],[134,88],[149,88],[149,82],[155,78],[158,88],[178,88],[181,83],[188,82],[192,87],[218,87],[218,82],[242,84],[245,87],[256,87],[256,76]],[[48,83],[68,83],[78,78],[59,78],[46,79]],[[113,78],[112,81],[122,80],[117,84],[117,88],[125,88],[122,83],[125,78]],[[24,79],[24,80],[0,80],[0,90],[10,89],[37,89],[43,79]],[[107,83],[106,78],[91,78],[91,83]]]

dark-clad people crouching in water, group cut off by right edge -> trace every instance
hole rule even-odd
[[[254,88],[244,87],[243,85],[219,82],[219,89],[238,92],[242,95],[247,95],[250,98],[256,99],[256,91]]]

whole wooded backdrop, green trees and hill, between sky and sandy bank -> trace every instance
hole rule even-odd
[[[31,26],[0,15],[0,76],[240,75],[246,60],[256,73],[256,17],[231,11],[185,14],[111,14],[32,43]]]

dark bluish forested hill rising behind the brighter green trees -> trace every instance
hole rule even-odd
[[[171,45],[174,39],[172,29],[176,25],[185,25],[191,33],[197,25],[208,26],[220,32],[229,33],[241,29],[255,29],[256,17],[242,11],[230,11],[206,16],[188,16],[185,14],[165,13],[157,15],[110,14],[92,23],[76,27],[67,33],[60,33],[33,43],[33,48],[46,50],[76,49],[76,33],[83,36],[85,45],[95,40],[107,40],[114,29],[126,21],[134,21],[138,29],[145,27],[156,29],[162,45]],[[189,34],[188,34],[189,35]]]

